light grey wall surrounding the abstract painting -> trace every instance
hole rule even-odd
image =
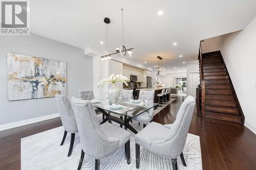
[[[68,96],[79,89],[93,89],[92,58],[84,51],[39,35],[0,36],[0,125],[58,113],[54,98],[8,102],[6,53],[59,60],[67,63]]]

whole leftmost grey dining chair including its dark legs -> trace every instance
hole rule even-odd
[[[63,139],[62,139],[60,145],[63,145],[63,143],[66,139],[67,133],[70,132],[71,133],[71,141],[70,141],[70,147],[69,147],[69,153],[68,153],[68,156],[70,156],[72,153],[72,150],[73,150],[75,133],[78,132],[74,111],[73,111],[70,101],[66,95],[56,94],[55,99],[57,102],[60,119],[61,119],[63,128],[65,130]]]

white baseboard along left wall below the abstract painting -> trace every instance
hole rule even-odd
[[[7,129],[12,129],[12,128],[17,128],[17,127],[20,127],[20,126],[25,126],[25,125],[41,122],[41,121],[44,121],[44,120],[56,118],[56,117],[59,117],[59,113],[49,114],[49,115],[46,115],[46,116],[40,116],[40,117],[30,118],[30,119],[26,119],[26,120],[21,120],[21,121],[18,121],[18,122],[4,124],[4,125],[0,125],[0,131],[4,131],[4,130],[7,130]]]

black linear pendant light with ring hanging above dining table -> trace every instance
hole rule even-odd
[[[132,50],[133,48],[129,48],[129,49],[126,49],[126,47],[124,46],[124,32],[123,32],[123,9],[121,9],[122,11],[122,35],[123,35],[123,44],[120,46],[120,48],[116,48],[116,53],[111,53],[111,54],[106,54],[106,51],[107,51],[107,48],[108,48],[108,24],[110,23],[110,18],[106,17],[104,18],[104,22],[106,23],[106,51],[105,51],[105,55],[104,56],[101,56],[101,60],[108,60],[108,59],[111,59],[111,55],[114,55],[114,54],[118,54],[120,53],[121,56],[125,56],[126,55],[126,52],[129,54],[129,55],[132,55]]]

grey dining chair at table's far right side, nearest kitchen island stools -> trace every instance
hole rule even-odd
[[[147,101],[148,103],[154,103],[154,95],[155,91],[154,90],[140,90],[139,93],[139,99],[142,101]],[[143,127],[146,126],[146,124],[150,123],[154,117],[154,108],[151,108],[150,110],[147,110],[138,116],[134,117],[133,120],[142,123]]]

